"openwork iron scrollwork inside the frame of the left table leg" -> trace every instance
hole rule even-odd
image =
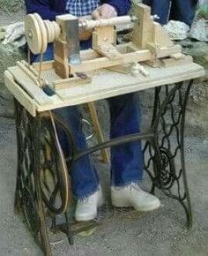
[[[15,211],[24,215],[34,239],[40,243],[40,217],[36,200],[33,169],[33,121],[18,102],[16,106],[16,130],[18,149],[18,175],[15,195]]]

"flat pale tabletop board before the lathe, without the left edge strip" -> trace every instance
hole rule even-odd
[[[56,102],[48,104],[48,106],[39,106],[38,110],[44,111],[86,102],[94,102],[120,94],[128,94],[204,76],[204,68],[194,63],[168,68],[152,68],[145,66],[145,69],[149,72],[149,76],[146,78],[143,75],[139,75],[135,78],[130,74],[101,70],[96,76],[92,76],[93,81],[91,84],[59,90],[56,94],[58,94],[62,100],[56,100]],[[53,74],[51,72],[51,77],[52,76]]]

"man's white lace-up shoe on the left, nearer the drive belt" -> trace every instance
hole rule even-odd
[[[99,185],[99,190],[91,196],[78,200],[75,211],[75,219],[77,222],[86,222],[93,220],[98,214],[98,207],[104,204],[102,189]]]

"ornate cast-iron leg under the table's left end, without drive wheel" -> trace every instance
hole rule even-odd
[[[45,212],[39,183],[40,120],[31,117],[19,102],[15,101],[18,148],[18,175],[15,193],[15,212],[24,215],[34,240],[46,255],[51,255]]]

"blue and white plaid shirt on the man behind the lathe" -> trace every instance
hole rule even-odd
[[[99,4],[100,0],[67,0],[66,11],[78,17],[91,15]]]

